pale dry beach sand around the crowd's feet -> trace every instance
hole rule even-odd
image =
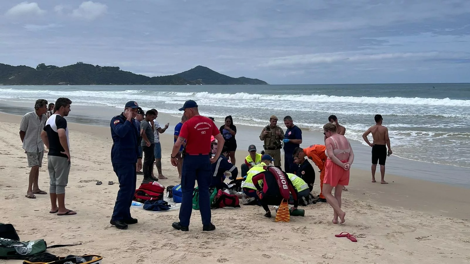
[[[290,223],[263,217],[257,206],[212,210],[217,229],[210,233],[202,232],[198,211],[193,211],[185,233],[171,227],[178,211],[132,208],[139,223],[118,230],[109,224],[118,191],[118,184],[107,185],[117,182],[110,163],[110,129],[83,124],[69,125],[72,165],[66,206],[78,214],[49,214],[48,195],[24,197],[29,168],[18,135],[21,116],[0,116],[0,223],[13,224],[23,241],[82,243],[48,250],[58,256],[97,254],[104,256],[103,263],[113,264],[470,262],[469,189],[388,174],[389,185],[373,184],[370,172],[358,169],[352,169],[350,191],[343,193],[343,225],[332,224],[332,209],[320,203],[305,207],[305,217],[292,217]],[[163,173],[168,177],[160,183],[176,185],[178,172],[169,162],[172,133],[162,134],[160,140]],[[240,147],[237,165],[245,155]],[[48,192],[47,156],[42,166],[39,187]],[[138,175],[138,184],[141,179]],[[103,184],[95,185],[97,180]],[[318,179],[313,192],[319,192]],[[341,232],[356,235],[358,242],[334,236]]]

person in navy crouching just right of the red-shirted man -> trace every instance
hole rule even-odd
[[[215,187],[217,188],[218,190],[221,190],[221,189],[228,189],[228,186],[227,184],[224,182],[224,179],[225,179],[225,173],[227,171],[229,171],[232,176],[230,177],[230,179],[236,179],[237,175],[238,175],[238,169],[237,167],[235,167],[234,164],[232,164],[229,160],[228,160],[228,154],[229,154],[229,150],[226,146],[224,146],[222,148],[222,153],[220,154],[219,156],[219,159],[215,162],[215,163],[212,163],[212,180],[211,180],[211,186],[209,186],[210,188],[212,187]]]

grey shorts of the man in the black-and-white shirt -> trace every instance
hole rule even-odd
[[[64,157],[48,155],[47,170],[50,178],[49,193],[64,194],[69,182],[70,161]]]

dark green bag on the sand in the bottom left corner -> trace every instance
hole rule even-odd
[[[18,251],[16,250],[18,249]],[[20,254],[24,249],[24,254]],[[0,238],[0,259],[24,259],[26,256],[46,251],[47,244],[43,239],[21,242],[6,238]],[[29,252],[28,252],[29,251]]]

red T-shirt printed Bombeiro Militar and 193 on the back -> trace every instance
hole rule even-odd
[[[214,122],[205,116],[193,116],[184,122],[180,137],[186,139],[186,153],[189,155],[211,153],[211,136],[220,133]]]

